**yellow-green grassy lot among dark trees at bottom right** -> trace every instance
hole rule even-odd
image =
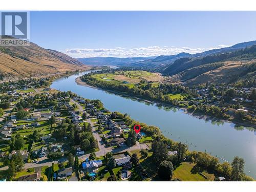
[[[194,163],[183,162],[181,163],[175,170],[174,170],[174,178],[179,178],[182,181],[213,181],[215,176],[214,174],[209,174],[207,172],[203,172],[203,174],[207,177],[205,179],[199,173],[195,172],[195,165]]]

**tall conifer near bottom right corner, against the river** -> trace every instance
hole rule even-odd
[[[242,181],[245,174],[244,174],[244,159],[239,158],[238,156],[234,157],[231,166],[232,166],[232,173],[231,179],[232,181]]]

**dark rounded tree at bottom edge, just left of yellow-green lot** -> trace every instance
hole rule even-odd
[[[169,181],[173,177],[174,166],[170,161],[162,161],[158,167],[158,176],[164,181]]]

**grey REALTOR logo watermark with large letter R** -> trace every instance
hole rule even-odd
[[[0,12],[0,46],[29,46],[29,12]]]

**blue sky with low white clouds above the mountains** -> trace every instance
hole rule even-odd
[[[190,54],[256,40],[256,11],[32,11],[30,41],[72,57]]]

